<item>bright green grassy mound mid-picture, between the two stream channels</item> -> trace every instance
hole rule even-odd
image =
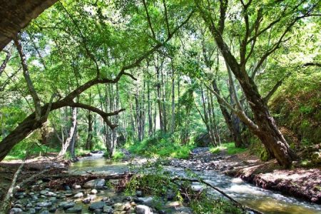
[[[131,153],[146,157],[186,159],[195,146],[180,145],[173,136],[160,134],[138,143],[128,143],[125,147]]]

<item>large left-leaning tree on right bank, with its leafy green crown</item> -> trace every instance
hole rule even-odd
[[[220,54],[228,69],[233,72],[253,112],[254,121],[245,115],[242,106],[236,101],[233,109],[250,131],[258,136],[270,156],[275,157],[280,165],[289,168],[295,159],[285,138],[271,116],[267,107],[270,93],[261,96],[255,83],[255,75],[277,49],[282,48],[295,24],[309,16],[315,16],[320,7],[318,1],[202,1],[195,0],[201,19],[213,36]],[[234,32],[225,32],[229,26]],[[225,35],[228,34],[229,35]],[[272,39],[266,39],[267,34]],[[239,41],[238,53],[230,50],[226,36],[235,36]],[[275,91],[272,88],[271,93]],[[215,93],[215,91],[213,91]]]

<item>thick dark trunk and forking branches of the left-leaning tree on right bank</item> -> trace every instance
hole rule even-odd
[[[297,21],[312,15],[312,12],[317,7],[317,3],[312,1],[309,6],[304,7],[302,6],[301,1],[287,2],[286,6],[281,6],[283,4],[282,2],[275,3],[273,1],[273,3],[267,2],[266,4],[257,5],[256,2],[253,1],[248,1],[248,3],[245,4],[245,2],[241,0],[240,4],[240,14],[243,19],[241,26],[244,26],[245,28],[243,29],[243,32],[240,32],[239,34],[239,56],[235,56],[230,51],[223,36],[228,1],[220,1],[218,9],[220,17],[215,24],[213,13],[208,10],[209,5],[206,5],[203,1],[195,0],[195,6],[198,8],[203,21],[205,21],[205,24],[208,26],[208,30],[212,34],[218,49],[220,49],[220,53],[223,55],[228,67],[243,88],[245,97],[250,103],[255,123],[245,116],[245,113],[238,102],[236,103],[238,109],[235,110],[238,112],[237,115],[248,125],[250,131],[260,138],[260,141],[265,145],[265,148],[267,148],[270,155],[274,156],[280,165],[289,168],[292,161],[295,159],[295,155],[270,115],[265,98],[260,96],[258,86],[256,86],[256,83],[252,78],[254,75],[249,76],[248,62],[250,57],[253,56],[253,53],[257,51],[255,48],[258,46],[259,38],[273,27],[272,30],[276,31],[274,36],[277,39],[274,44],[267,45],[264,54],[260,56],[261,58],[256,63],[252,72],[256,73],[263,65],[266,58],[277,49],[280,49],[281,44],[287,41],[285,37]],[[269,11],[271,4],[273,4],[272,6],[280,6],[280,13],[277,14],[276,19],[270,19],[272,18]],[[258,11],[256,13],[252,12],[255,9],[255,6],[258,6]],[[272,21],[269,22],[265,20]],[[233,24],[233,22],[231,24]],[[250,49],[248,49],[249,46]],[[237,58],[240,58],[240,61],[238,61]]]

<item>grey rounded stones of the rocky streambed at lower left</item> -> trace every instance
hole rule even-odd
[[[111,183],[117,183],[111,180]],[[39,180],[30,190],[16,193],[10,213],[191,213],[190,209],[170,198],[143,195],[126,196],[116,193],[109,181],[102,178],[89,180],[83,185],[64,185],[65,190],[46,188]],[[39,190],[41,189],[41,190]],[[162,209],[157,209],[160,208]]]

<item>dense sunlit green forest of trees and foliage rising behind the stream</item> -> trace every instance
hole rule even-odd
[[[209,147],[320,168],[320,16],[317,0],[57,1],[0,52],[0,161]]]

